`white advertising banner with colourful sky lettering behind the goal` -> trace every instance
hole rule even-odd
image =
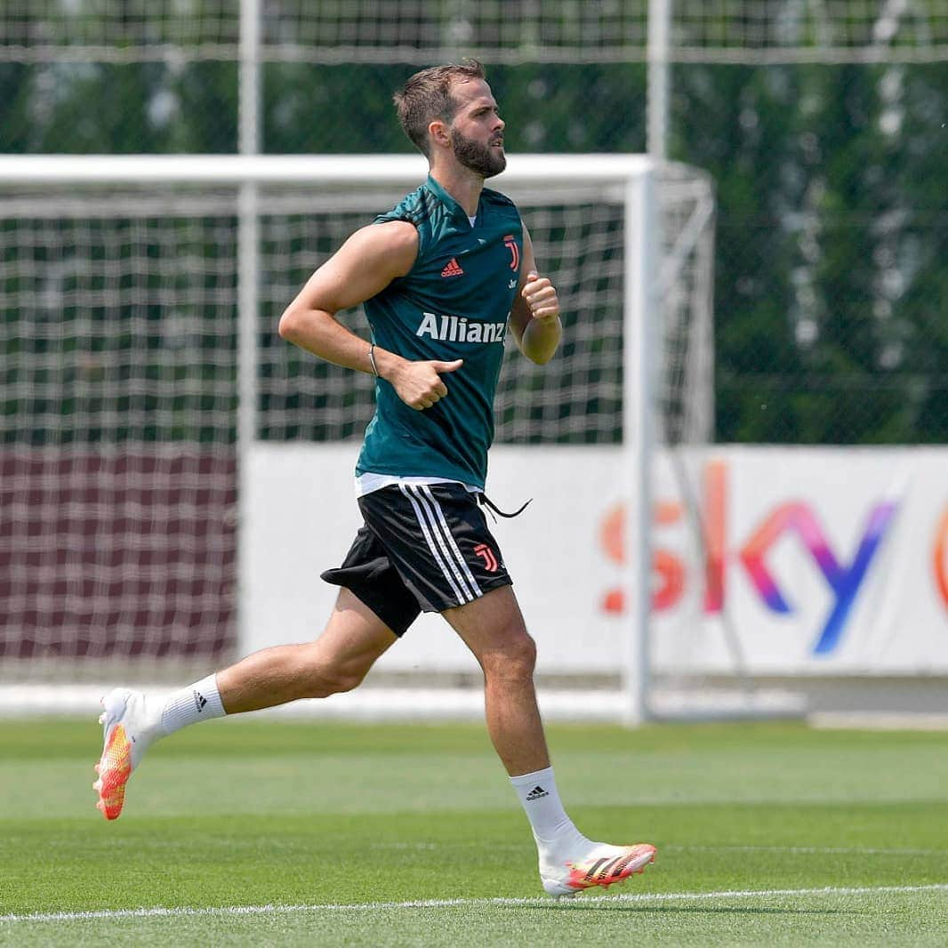
[[[357,446],[261,446],[250,458],[244,650],[318,634],[360,518]],[[626,492],[615,447],[496,446],[487,493],[538,670],[620,670],[630,644]],[[948,674],[948,449],[694,448],[661,453],[651,637],[659,671]],[[389,670],[470,671],[437,616]]]

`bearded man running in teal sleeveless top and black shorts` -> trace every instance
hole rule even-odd
[[[530,821],[543,888],[573,895],[642,872],[655,848],[592,842],[564,811],[534,689],[536,647],[479,506],[507,329],[524,356],[548,362],[559,301],[517,208],[483,186],[506,157],[481,64],[424,69],[394,101],[428,157],[428,180],[349,237],[280,319],[284,339],[376,378],[356,465],[365,522],[342,565],[322,574],[340,587],[335,609],[316,641],[265,648],[165,701],[125,688],[105,696],[98,806],[118,817],[156,739],[349,691],[420,611],[436,611],[483,669],[487,729]],[[359,304],[371,342],[336,318]]]

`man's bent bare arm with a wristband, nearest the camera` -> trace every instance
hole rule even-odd
[[[280,318],[280,335],[336,365],[372,373],[369,344],[336,319],[405,276],[418,255],[418,231],[407,221],[370,224],[356,232],[309,278]],[[395,353],[374,350],[378,374],[413,409],[430,408],[447,395],[439,373],[455,362],[411,362]]]

